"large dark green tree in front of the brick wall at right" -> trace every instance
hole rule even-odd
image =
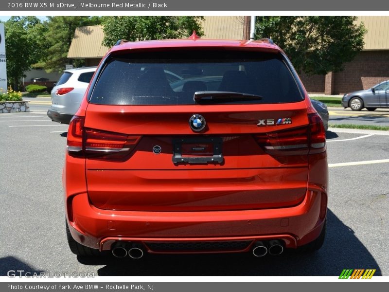
[[[326,74],[343,70],[363,49],[363,24],[352,16],[257,17],[256,37],[269,37],[298,72]]]

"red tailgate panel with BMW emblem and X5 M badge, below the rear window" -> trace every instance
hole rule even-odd
[[[189,127],[194,114],[206,120],[207,128],[202,133]],[[272,120],[284,118],[290,118],[291,124],[272,125]],[[270,125],[263,125],[264,120]],[[134,211],[247,210],[296,205],[307,189],[307,153],[269,154],[259,145],[256,135],[307,125],[303,101],[207,106],[89,104],[85,128],[141,136],[124,159],[86,160],[90,201],[102,209]],[[160,147],[160,153],[153,151],[155,146]],[[222,161],[210,162],[216,146],[221,146],[218,150]],[[177,148],[181,156],[206,157],[207,162],[175,163]]]

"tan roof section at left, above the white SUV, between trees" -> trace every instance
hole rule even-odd
[[[109,50],[102,45],[103,39],[104,31],[101,25],[77,27],[71,41],[68,58],[102,58]]]

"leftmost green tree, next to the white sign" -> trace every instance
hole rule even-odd
[[[46,26],[33,16],[11,17],[4,23],[8,83],[19,89],[25,71],[43,56]]]

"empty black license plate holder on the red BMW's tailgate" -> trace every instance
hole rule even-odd
[[[222,154],[222,143],[223,140],[221,137],[184,137],[173,139],[174,147],[172,161],[174,164],[221,164],[224,161],[224,157]],[[191,153],[183,153],[183,148],[187,148],[187,145],[211,145],[213,151],[211,155],[191,156]],[[195,154],[195,151],[197,151],[197,149],[198,151],[201,151],[201,148],[207,147],[193,147],[193,154]]]

